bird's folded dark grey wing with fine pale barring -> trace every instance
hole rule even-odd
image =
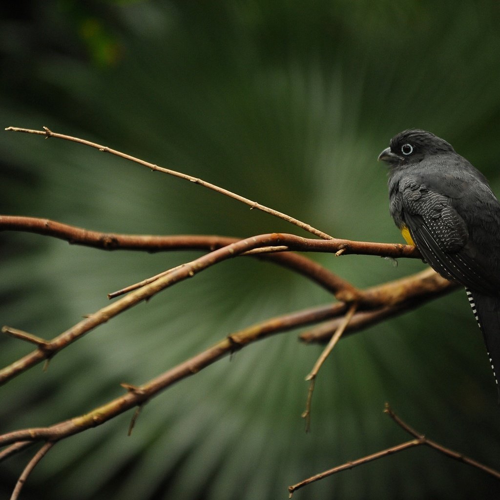
[[[442,276],[486,294],[497,290],[472,257],[467,226],[450,198],[414,178],[402,178],[399,196],[403,221],[426,262]]]

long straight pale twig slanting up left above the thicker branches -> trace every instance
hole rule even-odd
[[[55,133],[55,132],[52,132],[52,130],[50,130],[49,128],[47,128],[45,126],[43,127],[43,130],[32,130],[29,128],[19,128],[19,127],[13,127],[13,126],[6,127],[5,130],[13,131],[13,132],[33,133],[33,134],[37,134],[37,135],[43,135],[43,136],[45,136],[45,138],[56,137],[58,139],[69,140],[72,142],[77,142],[79,144],[84,144],[86,146],[94,147],[95,149],[98,149],[99,151],[114,154],[115,156],[119,156],[120,158],[124,158],[124,159],[130,160],[130,161],[133,161],[134,163],[138,163],[139,165],[146,166],[147,168],[150,168],[151,170],[167,173],[169,175],[173,175],[174,177],[179,177],[179,178],[184,179],[184,180],[189,180],[190,182],[194,182],[195,184],[201,185],[203,187],[207,187],[208,189],[212,189],[213,191],[216,191],[220,194],[224,194],[225,196],[229,196],[230,198],[236,199],[238,201],[241,201],[242,203],[245,203],[246,205],[249,205],[250,209],[256,208],[257,210],[261,210],[263,212],[270,213],[271,215],[274,215],[275,217],[279,217],[283,220],[286,220],[287,222],[290,222],[290,223],[300,227],[301,229],[304,229],[305,231],[310,232],[311,234],[315,234],[316,236],[319,236],[322,239],[331,239],[331,237],[332,237],[332,236],[326,234],[325,232],[320,231],[319,229],[312,227],[310,224],[306,224],[305,222],[302,222],[301,220],[290,217],[286,213],[282,213],[282,212],[279,212],[277,210],[274,210],[273,208],[269,208],[267,206],[264,206],[260,203],[257,203],[256,201],[252,201],[251,199],[240,196],[239,194],[228,191],[227,189],[219,187],[215,184],[212,184],[210,182],[206,182],[205,180],[202,180],[198,177],[193,177],[192,175],[187,175],[186,173],[177,172],[177,171],[171,170],[169,168],[163,168],[163,167],[155,165],[153,163],[149,163],[148,161],[144,161],[140,158],[135,158],[134,156],[130,156],[129,154],[125,154],[121,151],[117,151],[116,149],[111,149],[110,147],[96,144],[95,142],[91,142],[89,140],[80,139],[78,137],[72,137],[70,135],[64,135],[62,133]]]

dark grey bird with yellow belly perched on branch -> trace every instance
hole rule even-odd
[[[378,160],[389,167],[389,212],[406,242],[465,287],[500,398],[500,202],[485,176],[431,132],[398,133]]]

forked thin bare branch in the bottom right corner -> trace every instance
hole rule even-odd
[[[337,465],[336,467],[333,467],[331,469],[325,470],[324,472],[320,472],[319,474],[315,474],[311,477],[308,477],[307,479],[304,479],[300,482],[297,482],[296,484],[293,484],[291,486],[288,486],[288,493],[289,493],[289,498],[292,497],[292,494],[294,491],[297,489],[306,486],[307,484],[310,484],[311,482],[318,481],[320,479],[323,479],[324,477],[327,477],[332,474],[336,474],[337,472],[341,472],[342,470],[346,469],[351,469],[354,467],[357,467],[358,465],[363,465],[364,463],[368,463],[372,460],[376,460],[377,458],[383,458],[384,456],[391,455],[393,453],[398,453],[399,451],[402,451],[403,449],[411,448],[413,446],[418,446],[420,444],[424,444],[426,446],[429,446],[440,453],[443,453],[449,458],[453,458],[455,460],[458,460],[462,463],[466,463],[467,465],[471,465],[473,467],[478,468],[479,470],[482,470],[483,472],[486,472],[487,474],[495,477],[496,479],[500,479],[500,472],[491,468],[487,467],[486,465],[483,465],[482,463],[477,462],[476,460],[473,460],[472,458],[469,458],[465,455],[462,455],[461,453],[458,453],[456,451],[453,451],[449,448],[446,448],[442,446],[441,444],[436,443],[435,441],[432,441],[425,437],[424,434],[420,434],[419,432],[416,432],[414,429],[412,429],[407,423],[403,422],[389,407],[387,403],[385,403],[385,409],[384,412],[387,413],[403,430],[411,434],[414,439],[411,441],[406,441],[401,444],[396,444],[395,446],[392,446],[390,448],[383,449],[381,451],[377,451],[376,453],[372,453],[371,455],[366,455],[363,456],[362,458],[358,458],[357,460],[352,460],[348,461],[345,463],[342,463],[341,465]]]

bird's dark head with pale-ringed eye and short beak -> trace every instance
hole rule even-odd
[[[418,163],[432,154],[454,152],[451,145],[433,133],[411,129],[399,132],[390,139],[390,146],[384,149],[378,159],[390,166]]]

